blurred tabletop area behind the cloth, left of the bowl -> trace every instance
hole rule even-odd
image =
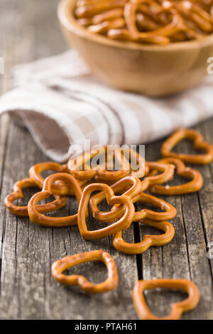
[[[0,94],[9,90],[11,68],[67,50],[57,18],[58,0],[0,0]]]

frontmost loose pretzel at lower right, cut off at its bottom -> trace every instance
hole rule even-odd
[[[188,297],[184,301],[173,303],[171,312],[168,316],[157,317],[151,313],[146,304],[143,292],[146,289],[178,289],[185,291]],[[151,279],[149,281],[141,280],[133,288],[133,303],[141,320],[178,320],[182,313],[192,310],[197,306],[200,300],[200,293],[192,281],[187,279]]]

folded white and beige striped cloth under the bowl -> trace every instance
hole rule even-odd
[[[73,145],[146,144],[213,114],[211,75],[200,87],[153,99],[99,82],[74,50],[18,65],[0,113],[21,121],[40,149],[65,162]]]

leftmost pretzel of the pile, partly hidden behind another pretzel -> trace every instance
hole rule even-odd
[[[25,178],[21,181],[16,182],[13,185],[13,193],[6,196],[4,199],[4,204],[6,205],[6,208],[8,208],[13,215],[19,216],[19,217],[28,217],[28,207],[27,206],[16,206],[13,204],[14,200],[18,200],[18,198],[23,198],[23,192],[22,189],[24,188],[38,188],[38,185],[33,181],[31,178]],[[52,212],[55,210],[58,210],[65,206],[66,204],[66,198],[63,196],[54,195],[55,200],[51,203],[41,204],[37,206],[38,212]]]

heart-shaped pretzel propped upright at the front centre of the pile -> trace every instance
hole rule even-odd
[[[116,203],[124,205],[124,215],[107,227],[100,230],[89,231],[86,223],[87,205],[89,203],[90,195],[97,190],[102,190],[106,193],[107,203],[109,205],[114,205]],[[86,240],[101,239],[103,237],[107,237],[108,235],[114,235],[114,233],[125,230],[129,227],[133,220],[134,212],[135,208],[129,197],[126,195],[115,196],[114,191],[109,187],[109,185],[104,183],[93,183],[91,185],[87,185],[82,193],[82,198],[77,212],[77,222],[80,234]]]

